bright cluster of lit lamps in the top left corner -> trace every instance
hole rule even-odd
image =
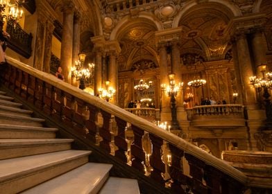
[[[16,25],[23,16],[24,0],[0,0],[1,21],[6,19]]]

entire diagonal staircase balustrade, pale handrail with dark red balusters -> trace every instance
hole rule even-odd
[[[109,157],[137,169],[173,193],[241,193],[254,182],[221,159],[139,116],[49,73],[12,58],[7,57],[7,62],[0,73],[1,83],[8,89],[67,125],[70,133],[80,134],[108,152]],[[127,139],[128,131],[133,142]],[[143,139],[150,144],[143,143]]]

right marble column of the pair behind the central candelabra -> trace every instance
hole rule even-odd
[[[178,85],[178,83],[182,82],[182,72],[180,67],[180,50],[178,48],[177,42],[173,42],[171,51],[172,73],[175,73],[175,82],[176,85]],[[187,114],[185,113],[183,101],[183,90],[182,88],[180,88],[180,91],[178,91],[178,94],[176,96],[176,110],[178,121],[187,120]]]

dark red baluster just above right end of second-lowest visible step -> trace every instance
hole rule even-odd
[[[103,116],[103,125],[99,128],[99,135],[103,140],[100,142],[100,147],[110,153],[110,141],[112,139],[112,134],[110,133],[110,122],[112,115],[103,110],[101,110],[101,114]]]

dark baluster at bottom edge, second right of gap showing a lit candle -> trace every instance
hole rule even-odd
[[[205,181],[205,179],[203,179],[205,162],[187,153],[185,153],[185,158],[190,166],[190,175],[194,179],[193,192],[207,193],[207,187],[204,185],[205,182],[203,182],[203,180]]]

